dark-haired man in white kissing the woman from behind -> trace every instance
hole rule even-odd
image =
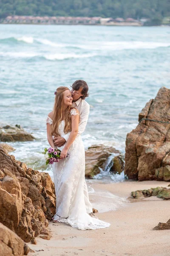
[[[88,115],[90,111],[89,104],[85,101],[85,98],[88,97],[88,85],[83,80],[77,80],[72,84],[72,97],[73,97],[73,103],[71,105],[71,108],[77,108],[79,111],[79,131],[78,134],[82,134],[83,131],[85,131],[86,124],[88,122]],[[63,137],[54,137],[54,144],[57,147],[61,147],[69,137],[70,133],[65,134]],[[91,204],[89,204],[88,200],[88,188],[87,184],[84,184],[84,195],[85,195],[85,205],[86,205],[86,211],[91,217],[97,218],[96,215],[93,213],[93,209]]]

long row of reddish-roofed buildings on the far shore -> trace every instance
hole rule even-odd
[[[142,22],[133,18],[124,20],[102,17],[49,17],[49,16],[7,16],[1,19],[3,24],[54,24],[54,25],[104,25],[104,26],[142,26]]]

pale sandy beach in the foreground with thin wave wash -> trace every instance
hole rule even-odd
[[[170,202],[156,197],[135,200],[130,192],[151,187],[166,187],[169,182],[125,181],[122,183],[95,183],[90,193],[96,215],[111,223],[109,228],[77,230],[66,224],[49,222],[51,240],[36,238],[30,244],[34,253],[28,256],[169,256],[169,230],[152,230],[159,222],[170,218]]]

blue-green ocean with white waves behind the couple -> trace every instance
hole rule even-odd
[[[170,88],[170,27],[0,24],[0,123],[36,138],[9,143],[17,160],[47,168],[42,151],[54,91],[77,79],[90,90],[85,148],[102,143],[125,153],[139,112],[160,87]]]

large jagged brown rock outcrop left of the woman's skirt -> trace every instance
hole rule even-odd
[[[48,173],[27,168],[0,148],[0,222],[28,242],[50,236],[55,213],[54,183]],[[48,220],[47,220],[48,219]]]

